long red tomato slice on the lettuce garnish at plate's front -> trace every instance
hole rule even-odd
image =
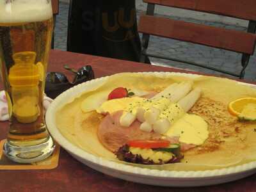
[[[168,140],[132,140],[127,143],[130,147],[139,148],[162,148],[168,147],[170,141]]]

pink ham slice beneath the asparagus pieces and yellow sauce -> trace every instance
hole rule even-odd
[[[161,139],[162,135],[156,132],[145,132],[140,130],[140,122],[137,120],[130,127],[122,127],[119,123],[120,116],[123,111],[117,111],[112,115],[106,115],[100,122],[98,137],[102,145],[116,152],[118,148],[127,144],[129,140],[157,140]],[[179,137],[166,138],[170,143],[179,143]],[[181,151],[184,152],[196,145],[180,143]]]

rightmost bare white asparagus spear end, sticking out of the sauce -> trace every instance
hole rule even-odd
[[[192,90],[190,93],[188,93],[186,97],[179,100],[179,106],[182,107],[185,112],[188,112],[189,109],[191,109],[199,99],[201,92],[202,90],[200,88],[195,88],[195,90]]]

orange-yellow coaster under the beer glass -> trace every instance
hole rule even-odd
[[[6,140],[0,142],[0,170],[51,170],[58,166],[60,157],[60,145],[56,143],[54,152],[44,161],[36,163],[15,163],[8,159],[3,152],[3,145]]]

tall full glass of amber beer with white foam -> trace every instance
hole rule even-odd
[[[51,0],[0,0],[0,67],[10,130],[4,153],[33,163],[51,156],[44,120],[45,74],[52,37]]]

